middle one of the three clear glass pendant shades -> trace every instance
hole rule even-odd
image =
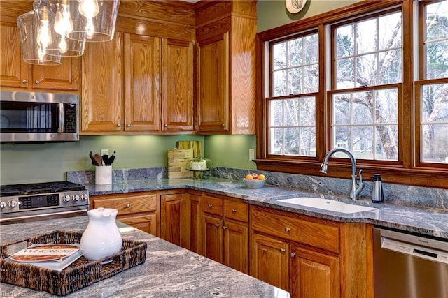
[[[53,1],[55,3],[55,26],[57,33],[55,43],[52,43],[50,54],[60,52],[62,57],[77,57],[84,54],[85,49],[85,32],[74,33],[75,39],[69,38],[69,34],[73,32],[76,22],[83,22],[85,18],[80,20],[73,19],[78,11],[78,0],[62,0]]]

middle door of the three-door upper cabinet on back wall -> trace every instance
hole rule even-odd
[[[125,131],[160,130],[160,38],[125,33]]]

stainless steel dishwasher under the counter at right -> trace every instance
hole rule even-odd
[[[374,297],[448,298],[448,239],[375,227]]]

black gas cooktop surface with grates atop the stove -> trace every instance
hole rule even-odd
[[[9,184],[0,186],[0,197],[83,190],[85,190],[85,186],[69,181],[43,182],[32,184]]]

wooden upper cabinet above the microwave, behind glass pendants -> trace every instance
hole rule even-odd
[[[5,5],[5,3],[2,3],[1,5]],[[62,64],[59,66],[27,64],[22,59],[20,36],[17,25],[15,22],[11,23],[5,21],[7,20],[3,20],[2,15],[0,23],[1,87],[38,92],[43,92],[45,89],[47,89],[47,91],[78,91],[80,66],[80,59],[78,57],[63,58]]]

